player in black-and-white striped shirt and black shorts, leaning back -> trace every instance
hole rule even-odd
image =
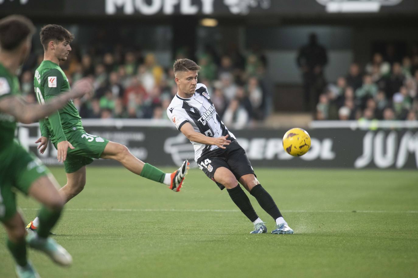
[[[197,83],[200,66],[189,59],[174,63],[177,94],[167,108],[168,118],[193,144],[199,168],[222,190],[254,224],[250,233],[267,233],[265,223],[255,213],[238,181],[276,221],[273,234],[291,234],[277,205],[258,182],[245,150],[222,123],[205,85]]]

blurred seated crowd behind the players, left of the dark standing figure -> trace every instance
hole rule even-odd
[[[29,59],[20,78],[28,102],[36,101],[33,75],[42,59],[42,55],[32,62]],[[198,56],[197,63],[201,66],[198,82],[209,87],[227,126],[242,128],[265,118],[269,93],[262,55],[245,57],[236,51],[217,55],[208,50]],[[83,77],[94,80],[94,96],[74,100],[82,118],[165,119],[177,92],[173,68],[163,68],[153,53],[117,48],[99,55],[77,55],[73,49],[60,66],[70,84]]]

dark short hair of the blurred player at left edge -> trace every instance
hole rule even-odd
[[[9,15],[0,20],[0,48],[14,50],[28,36],[35,33],[35,26],[23,15]]]

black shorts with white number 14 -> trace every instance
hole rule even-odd
[[[229,169],[237,180],[243,175],[254,174],[251,162],[248,160],[245,150],[238,144],[236,140],[232,141],[226,149],[216,149],[206,155],[201,156],[197,160],[197,164],[201,170],[213,180],[222,190],[224,185],[217,183],[214,180],[214,174],[217,168],[225,167]]]

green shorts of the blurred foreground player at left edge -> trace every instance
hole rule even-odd
[[[48,169],[17,140],[0,153],[0,221],[16,214],[16,190],[28,195],[34,181],[48,175]]]

